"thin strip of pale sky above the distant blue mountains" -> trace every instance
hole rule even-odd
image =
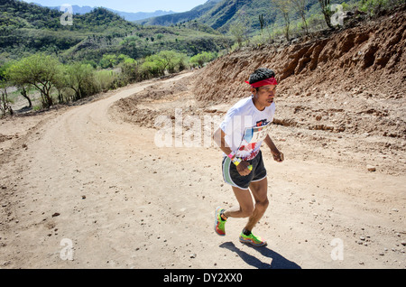
[[[24,0],[43,6],[60,6],[64,4],[114,9],[122,12],[154,12],[156,10],[185,12],[208,0]]]

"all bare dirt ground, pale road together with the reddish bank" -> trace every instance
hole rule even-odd
[[[400,10],[2,119],[0,267],[404,269],[405,23]],[[198,136],[249,96],[258,67],[280,81],[271,137],[286,159],[263,149],[262,248],[238,242],[245,219],[214,233],[215,208],[236,202],[221,152]],[[160,116],[168,146],[157,145]]]

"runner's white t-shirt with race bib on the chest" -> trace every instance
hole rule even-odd
[[[274,114],[275,103],[260,111],[254,106],[252,96],[238,101],[220,124],[227,147],[245,161],[254,159],[269,133]]]

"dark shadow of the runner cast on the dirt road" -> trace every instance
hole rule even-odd
[[[235,252],[241,257],[247,264],[250,264],[258,269],[301,269],[300,265],[295,264],[292,261],[289,261],[282,255],[272,251],[267,246],[254,247],[252,245],[246,245],[250,248],[255,249],[264,257],[270,258],[270,263],[264,263],[253,255],[247,254],[245,251],[242,251],[234,245],[232,242],[226,242],[220,245],[222,248],[226,248],[230,251]]]

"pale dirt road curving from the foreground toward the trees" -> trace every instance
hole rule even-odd
[[[109,114],[116,100],[150,85],[68,108],[36,127],[3,177],[0,267],[406,267],[405,177],[290,160],[294,146],[283,164],[263,151],[271,205],[256,230],[268,246],[238,242],[243,219],[216,236],[215,208],[235,204],[221,153],[158,148],[155,130]]]

